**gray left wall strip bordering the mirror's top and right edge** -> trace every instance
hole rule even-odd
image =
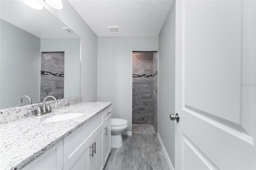
[[[46,3],[50,11],[81,38],[81,96],[82,101],[97,101],[97,43],[98,37],[84,22],[67,0],[56,10]]]

